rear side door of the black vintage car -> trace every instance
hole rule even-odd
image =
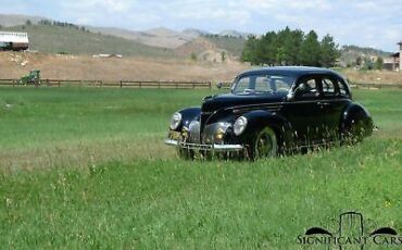
[[[346,90],[343,79],[335,75],[323,75],[323,100],[321,107],[325,111],[324,137],[326,140],[335,140],[339,135],[339,126],[342,112],[350,99]]]

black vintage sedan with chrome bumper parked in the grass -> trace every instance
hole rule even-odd
[[[250,159],[294,152],[373,132],[368,112],[352,101],[347,80],[317,67],[265,67],[238,75],[230,93],[173,114],[165,143],[194,152]]]

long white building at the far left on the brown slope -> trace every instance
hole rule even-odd
[[[0,32],[0,50],[26,50],[28,48],[27,33]]]

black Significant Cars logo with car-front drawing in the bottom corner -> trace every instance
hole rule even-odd
[[[339,216],[337,233],[312,227],[304,235],[299,235],[297,242],[302,246],[339,246],[339,249],[363,249],[367,245],[402,247],[402,236],[390,227],[381,227],[365,235],[363,215],[356,212],[347,212]]]

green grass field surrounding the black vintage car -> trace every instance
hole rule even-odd
[[[402,91],[354,92],[380,128],[354,147],[178,160],[163,145],[169,117],[205,95],[1,88],[1,248],[309,249],[297,236],[336,232],[347,211],[367,234],[402,232]]]

